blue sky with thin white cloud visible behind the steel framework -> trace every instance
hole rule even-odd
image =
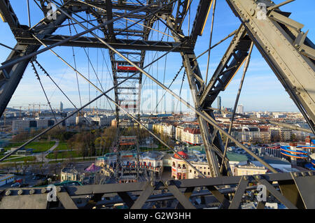
[[[274,2],[279,3],[281,1]],[[18,15],[20,23],[28,24],[26,0],[11,0],[10,2],[13,5],[15,13]],[[195,18],[195,10],[197,8],[198,2],[199,1],[197,0],[193,0],[190,15],[191,17],[190,25],[193,24],[193,20]],[[43,18],[43,13],[41,13],[41,11],[38,10],[34,1],[30,1],[30,3],[31,24],[34,25]],[[307,29],[309,29],[308,37],[312,41],[314,41],[315,35],[313,29],[314,19],[311,19],[314,18],[315,14],[314,6],[315,6],[314,0],[302,1],[300,0],[294,1],[293,3],[289,3],[288,5],[281,7],[281,10],[283,11],[292,12],[290,17],[293,18],[293,20],[297,20],[297,22],[304,24],[303,31],[307,31]],[[86,17],[85,14],[81,15]],[[216,6],[216,17],[214,21],[214,34],[212,43],[213,44],[217,43],[222,38],[230,34],[232,31],[239,27],[239,24],[240,22],[238,18],[235,17],[235,15],[232,13],[228,4],[223,0],[218,0]],[[207,25],[204,29],[204,34],[202,36],[199,36],[197,40],[195,48],[196,55],[200,55],[201,52],[207,50],[207,48],[209,47],[210,25],[211,13],[209,15]],[[163,24],[159,24],[159,26],[161,31],[165,30]],[[158,27],[158,24],[156,25],[156,27]],[[10,47],[14,47],[16,41],[8,27],[8,24],[0,22],[0,30],[1,30],[0,43],[9,45]],[[82,31],[82,29],[78,28],[78,31]],[[183,23],[183,31],[184,34],[188,33],[188,16],[186,17],[186,20]],[[97,34],[97,31],[95,33]],[[65,28],[58,29],[55,34],[68,34],[68,29]],[[158,34],[157,32],[153,31],[152,37],[150,38],[156,40],[160,39],[161,37],[162,34]],[[167,36],[164,37],[164,40],[167,40]],[[172,41],[172,38],[169,38],[169,41]],[[223,56],[225,50],[228,48],[229,43],[230,39],[228,39],[228,41],[225,41],[221,45],[218,45],[218,47],[211,50],[208,80],[209,78],[211,78],[212,73],[216,69],[216,66],[218,65],[218,62],[221,60],[221,57]],[[66,60],[66,62],[69,62],[69,64],[74,66],[71,48],[57,47],[54,48],[53,50],[55,50],[55,52],[62,56]],[[91,66],[90,68],[88,68],[87,66],[88,64],[87,57],[85,56],[83,48],[74,48],[74,50],[76,53],[76,64],[78,71],[88,76],[89,74],[88,70],[90,69],[90,80],[94,82],[95,85],[99,86],[99,83],[97,83],[97,79],[95,78]],[[10,50],[0,46],[0,62],[4,62],[6,60],[6,57],[8,57],[9,53]],[[101,50],[97,49],[89,50],[89,55],[92,60],[92,64],[97,71],[99,79],[102,82],[102,87],[104,89],[109,89],[109,87],[112,87],[113,84],[111,82],[112,81],[111,72],[106,68],[106,64],[109,66],[109,69],[111,67],[108,50],[104,50],[104,54],[105,58],[103,59]],[[148,64],[149,62],[152,61],[153,55],[155,55],[155,52],[148,51],[146,53],[145,64]],[[162,52],[159,52],[158,55],[162,55]],[[75,103],[76,106],[80,106],[78,88],[76,87],[77,86],[76,73],[69,69],[69,67],[63,64],[57,57],[55,57],[55,55],[52,55],[52,53],[49,51],[44,52],[41,55],[38,55],[37,59],[38,62],[40,62],[48,71],[48,73],[50,73],[55,82],[59,84],[59,87],[61,87],[64,90],[64,92],[66,92],[66,94],[71,98],[73,103]],[[207,54],[200,57],[200,59],[198,59],[198,62],[200,64],[200,70],[202,71],[202,75],[204,75],[205,79],[207,69]],[[165,85],[168,86],[169,83],[174,78],[176,72],[179,71],[180,66],[181,56],[179,55],[179,53],[170,53],[169,55],[167,55],[166,66],[165,58],[163,58],[160,59],[158,63],[154,64],[151,67],[151,69],[146,69],[146,71],[148,71],[148,73],[153,75],[155,78],[158,77],[158,80],[160,80],[160,82],[164,81]],[[243,70],[242,68],[239,69],[239,73],[235,75],[235,78],[232,80],[228,88],[225,89],[225,92],[221,92],[220,94],[222,98],[222,105],[225,107],[232,107],[234,104],[242,70]],[[46,78],[45,75],[43,75],[43,73],[40,73],[40,75],[41,80],[43,81],[43,85],[45,87],[45,91],[48,94],[48,98],[50,99],[50,102],[52,103],[53,107],[59,108],[60,101],[64,103],[64,108],[73,107],[71,106],[71,103],[69,103],[69,101],[67,101],[66,98],[62,95],[62,93],[58,91],[57,87],[52,85],[52,82],[50,82],[50,80]],[[183,71],[181,71],[179,77],[176,79],[176,81],[171,87],[171,89],[178,94],[179,89],[181,87],[182,77]],[[96,90],[93,87],[90,87],[89,96],[89,85],[87,85],[83,78],[79,77],[79,84],[82,103],[86,103],[87,101],[89,101],[89,99],[93,99],[95,96],[98,95]],[[144,77],[144,85],[142,88],[143,107],[148,106],[148,104],[151,104],[151,106],[156,104],[155,95],[148,96],[149,94],[150,95],[155,94],[156,89],[157,89],[156,85],[153,84],[151,80],[148,80],[148,78]],[[163,94],[162,89],[158,87],[158,100],[160,100],[162,94]],[[114,98],[113,92],[111,92],[109,96]],[[183,96],[184,99],[193,104],[192,97],[190,95],[190,89],[188,87],[188,82],[186,79],[183,83],[183,90],[181,96]],[[172,109],[171,100],[172,97],[167,94],[165,103],[164,102],[160,103],[159,110],[165,110],[164,104],[166,104],[166,110],[168,111],[171,110]],[[9,103],[9,106],[11,107],[28,106],[31,103],[46,103],[46,100],[40,86],[38,85],[38,80],[34,75],[34,71],[31,69],[31,66],[29,65],[27,67],[27,70],[25,71],[25,74],[23,75],[23,78],[20,82],[20,85],[18,86],[18,89],[16,89],[15,94],[13,95]],[[269,66],[267,65],[267,63],[265,62],[265,60],[262,58],[262,56],[255,47],[253,49],[251,63],[249,64],[248,71],[246,73],[246,78],[244,80],[244,86],[239,99],[239,104],[242,104],[244,106],[245,111],[249,110],[297,111],[295,104],[293,103],[293,101],[290,100],[288,94],[283,89],[283,86],[277,80],[272,70],[269,69]],[[109,103],[106,103],[105,99],[97,101],[97,103],[91,105],[91,107],[93,106],[100,108],[111,108],[109,106]],[[111,106],[112,108],[114,108],[113,105]],[[155,108],[155,106],[153,107]],[[216,101],[214,103],[214,107],[216,107]],[[177,110],[179,110],[179,108]],[[183,106],[183,110],[187,109],[184,108]]]

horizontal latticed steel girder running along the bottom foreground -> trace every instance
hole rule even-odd
[[[156,182],[134,182],[128,184],[83,185],[57,187],[57,202],[48,202],[45,187],[10,188],[0,193],[0,208],[110,208],[115,203],[125,203],[129,208],[148,208],[163,201],[176,201],[173,208],[241,208],[241,204],[253,202],[255,198],[242,199],[247,191],[256,191],[255,186],[265,185],[271,194],[269,199],[282,203],[287,208],[296,209],[295,194],[277,190],[279,185],[293,185],[302,199],[301,208],[314,208],[314,171],[302,173],[272,173],[249,176],[221,176],[188,180],[167,180]],[[226,188],[229,186],[230,188]],[[204,187],[205,189],[200,189]],[[167,193],[161,193],[168,191]],[[226,194],[234,194],[227,199]],[[154,195],[153,195],[154,194]],[[118,196],[117,196],[118,195]],[[90,199],[85,199],[90,196]],[[102,199],[105,198],[105,199]],[[195,203],[200,197],[204,203]],[[264,201],[265,202],[265,201]],[[151,203],[151,204],[150,204]],[[179,205],[179,204],[180,205]],[[89,205],[90,204],[90,205]],[[161,207],[163,208],[163,207]],[[256,208],[263,208],[257,206]]]

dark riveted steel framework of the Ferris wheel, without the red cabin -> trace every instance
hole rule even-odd
[[[45,13],[47,13],[44,9],[45,3],[52,3],[55,1],[39,0],[39,2],[41,3],[45,16]],[[251,152],[251,150],[248,150],[245,145],[239,143],[229,133],[219,127],[214,117],[214,109],[211,108],[211,105],[214,103],[214,100],[216,100],[218,94],[228,87],[232,78],[241,68],[246,58],[249,57],[248,52],[251,48],[250,46],[254,43],[255,47],[258,48],[262,57],[265,58],[267,64],[269,64],[276,77],[288,92],[290,98],[293,99],[297,108],[299,108],[300,112],[309,124],[311,131],[315,133],[314,44],[309,40],[309,38],[307,38],[307,32],[304,33],[301,31],[303,25],[299,22],[291,20],[289,18],[290,13],[282,12],[279,9],[280,6],[290,3],[291,1],[284,1],[278,5],[275,5],[269,0],[226,0],[226,2],[228,3],[228,6],[230,6],[232,12],[235,13],[235,16],[241,21],[241,25],[237,31],[228,36],[233,36],[232,41],[223,55],[221,62],[218,64],[217,69],[214,71],[214,74],[209,79],[209,82],[205,82],[199,69],[194,48],[197,37],[202,35],[202,32],[204,31],[204,26],[207,22],[207,17],[209,15],[209,11],[211,10],[213,0],[200,0],[190,36],[185,36],[181,29],[186,14],[188,13],[188,8],[192,3],[190,0],[148,1],[146,5],[140,1],[137,1],[137,3],[134,1],[106,1],[104,3],[104,1],[69,0],[66,1],[64,5],[58,7],[59,10],[56,20],[51,21],[45,18],[31,28],[20,24],[12,6],[10,6],[9,0],[0,0],[1,17],[3,17],[5,22],[8,22],[10,29],[13,31],[13,34],[18,41],[6,62],[0,66],[0,114],[3,113],[8,105],[8,102],[10,101],[16,87],[18,87],[20,79],[22,78],[27,64],[29,64],[32,57],[41,52],[50,50],[57,45],[83,48],[108,48],[114,79],[114,87],[111,89],[114,89],[115,100],[106,95],[106,92],[109,92],[111,89],[106,92],[99,89],[101,95],[97,96],[96,99],[99,99],[101,96],[106,96],[113,101],[113,103],[116,104],[117,120],[120,108],[123,110],[119,103],[119,95],[123,93],[118,91],[118,86],[128,79],[133,80],[135,84],[141,86],[142,75],[146,75],[146,77],[150,78],[157,85],[165,89],[166,92],[172,94],[172,96],[181,101],[181,103],[195,111],[197,120],[200,124],[200,131],[204,141],[211,176],[214,181],[216,181],[215,179],[222,180],[224,178],[228,180],[235,178],[232,177],[228,159],[225,157],[225,146],[223,145],[223,141],[221,139],[221,135],[224,135],[230,141],[234,142],[240,148],[251,154],[255,159],[260,161],[275,174],[274,176],[276,176],[276,178],[274,178],[273,181],[279,182],[278,187],[281,193],[277,192],[276,189],[270,185],[269,177],[272,178],[272,175],[269,175],[269,177],[268,175],[258,175],[255,178],[258,182],[267,187],[268,192],[276,196],[276,198],[281,201],[281,203],[286,204],[288,208],[309,208],[312,205],[309,200],[310,198],[307,198],[306,194],[314,194],[314,190],[312,191],[309,187],[310,183],[314,181],[314,174],[311,171],[307,174],[302,174],[302,176],[294,175],[292,173],[290,176],[277,173],[272,166],[260,159],[260,157]],[[260,13],[258,3],[264,3],[265,6],[267,6],[267,13],[265,18],[262,20],[258,17],[258,13]],[[172,6],[176,6],[177,8],[173,8]],[[93,8],[97,10],[94,10]],[[113,13],[113,8],[117,10],[129,10],[130,12]],[[73,16],[71,16],[71,14],[83,11],[96,17],[99,24],[92,28],[87,28],[83,25],[83,22],[78,22]],[[140,12],[145,12],[146,14],[141,14]],[[130,29],[130,27],[140,21],[133,21],[134,24],[130,25],[130,27],[127,27],[126,29],[114,27],[116,21],[123,18],[127,20],[127,17],[144,21],[143,29]],[[73,36],[53,35],[57,27],[62,25],[62,23],[67,19],[74,20],[76,24],[85,29],[85,31]],[[174,42],[148,41],[151,29],[154,30],[152,28],[153,23],[157,20],[162,21],[162,23],[169,28],[174,38]],[[105,38],[101,38],[92,32],[96,29],[103,31]],[[83,36],[87,33],[92,34],[94,37]],[[130,34],[140,37],[141,39],[130,38]],[[116,38],[116,35],[125,36],[125,38]],[[38,41],[43,43],[43,45],[49,46],[39,50],[41,44],[38,44]],[[121,49],[126,51],[118,51]],[[210,49],[211,48],[209,46],[209,50]],[[172,92],[171,89],[144,71],[144,58],[146,50],[179,52],[181,54],[191,94],[193,95],[195,103],[194,106],[190,105],[187,101],[183,100],[181,96]],[[138,61],[129,59],[128,56],[133,53],[134,55],[140,56]],[[134,66],[138,71],[132,73],[132,75],[128,74],[126,76],[125,72],[121,72],[123,74],[119,75],[118,73],[120,72],[116,69],[117,66],[115,65],[116,63],[123,61],[116,60],[116,55],[123,58],[125,62]],[[136,74],[138,74],[138,76],[136,76]],[[124,80],[118,83],[118,79]],[[127,85],[125,87],[120,86],[122,89],[127,89],[127,87]],[[137,100],[140,102],[141,92],[134,95],[137,96]],[[95,101],[96,99],[92,101]],[[91,101],[85,104],[85,106],[90,103]],[[130,115],[135,122],[141,124],[139,122],[139,107],[140,106],[137,108],[137,118],[132,116],[130,113],[127,114]],[[84,108],[84,106],[82,108]],[[82,108],[77,109],[73,112],[73,114],[80,111]],[[125,110],[123,111],[125,112]],[[235,114],[235,110],[233,111],[233,114]],[[46,129],[44,132],[48,130],[49,129]],[[34,140],[34,138],[32,140]],[[27,143],[29,142],[30,141]],[[0,161],[6,157],[1,158]],[[282,178],[282,175],[286,175],[286,179]],[[231,203],[228,201],[228,196],[223,196],[223,194],[218,191],[218,185],[220,185],[218,182],[220,181],[216,184],[213,183],[212,185],[207,185],[207,189],[209,189],[211,194],[218,199],[223,208],[239,208],[241,196],[246,191],[246,187],[248,186],[248,182],[251,177],[248,178],[247,176],[244,176],[237,179],[239,181],[235,181],[233,184],[230,184],[232,187],[234,187],[233,185],[238,185],[237,189],[234,191],[235,193],[232,193],[234,194],[234,197]],[[130,208],[141,208],[149,199],[152,192],[155,189],[160,188],[160,183],[162,183],[163,187],[167,187],[169,192],[171,192],[179,201],[180,205],[176,206],[177,208],[194,208],[193,204],[189,201],[189,197],[193,194],[193,189],[195,187],[202,185],[200,184],[202,179],[194,180],[196,185],[190,185],[190,187],[187,187],[184,195],[181,191],[179,191],[181,185],[178,184],[177,182],[179,181],[176,180],[167,182],[148,182],[148,184],[145,185],[141,184],[142,193],[134,202],[134,199],[127,194],[127,192],[132,192],[131,188],[121,192],[118,192],[118,190],[116,191],[119,193],[118,195],[120,198],[123,199]],[[189,180],[181,180],[181,182],[189,182]],[[306,183],[306,185],[301,182]],[[134,185],[137,185],[137,183]],[[228,185],[228,183],[225,185]],[[92,185],[92,187],[93,186],[95,185]],[[301,188],[305,191],[302,192]],[[67,187],[66,192],[64,192],[64,189],[60,188],[58,198],[62,202],[64,208],[77,208],[76,204],[74,204],[71,200],[69,189],[70,187]],[[100,194],[107,193],[104,192],[104,189],[101,190],[102,192]],[[100,194],[93,197],[95,204],[100,201]],[[8,193],[8,196],[9,195],[10,193]],[[8,203],[10,202],[8,199],[6,200]],[[263,208],[264,206],[265,204],[259,203],[259,208]]]

